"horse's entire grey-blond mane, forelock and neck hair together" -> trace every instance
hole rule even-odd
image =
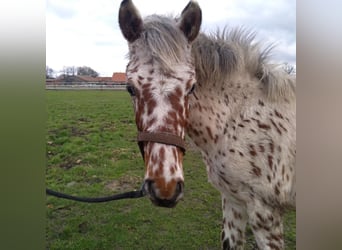
[[[174,65],[190,61],[188,42],[177,27],[177,19],[152,15],[144,20],[140,42],[161,70],[170,73]],[[237,74],[249,73],[264,84],[268,98],[294,98],[296,80],[281,67],[270,63],[272,46],[262,49],[255,32],[243,28],[199,34],[192,45],[192,60],[198,82],[222,84]]]

